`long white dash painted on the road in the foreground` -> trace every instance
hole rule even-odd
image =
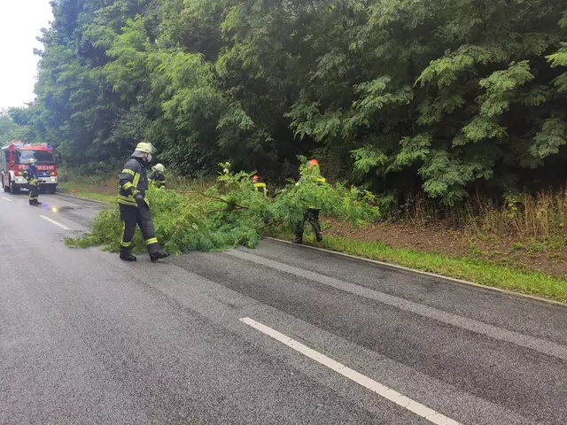
[[[368,376],[359,374],[350,367],[346,367],[345,365],[338,363],[338,361],[330,359],[320,352],[315,352],[315,350],[307,347],[307,345],[301,344],[298,341],[291,339],[291,337],[285,336],[277,330],[263,325],[259,321],[254,321],[249,317],[244,317],[240,319],[240,321],[244,322],[248,326],[251,326],[252,328],[260,330],[260,332],[263,334],[271,336],[280,343],[291,347],[293,350],[300,352],[301,354],[307,356],[309,359],[313,359],[316,362],[321,363],[323,366],[329,367],[338,374],[343,375],[351,381],[360,384],[364,388],[376,392],[377,395],[387,398],[396,405],[401,406],[410,412],[416,413],[416,415],[421,416],[423,419],[426,419],[431,423],[435,423],[437,425],[461,425],[459,422],[447,418],[447,416],[444,416],[443,414],[438,413],[433,409],[424,406],[415,400],[412,400],[411,398],[407,398],[406,396],[400,394],[398,391],[392,390],[391,388],[388,388],[381,383],[377,383],[373,379],[370,379]]]

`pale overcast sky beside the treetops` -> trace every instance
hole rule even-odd
[[[0,0],[0,110],[34,100],[35,37],[52,19],[50,0]]]

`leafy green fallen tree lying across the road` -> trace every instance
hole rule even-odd
[[[309,168],[302,159],[299,182],[290,182],[274,199],[253,189],[253,173],[232,173],[229,163],[220,164],[217,183],[204,192],[149,190],[156,236],[165,243],[165,249],[175,253],[223,250],[238,244],[253,248],[260,241],[262,229],[293,230],[309,207],[356,224],[378,219],[369,192],[343,184],[320,185],[316,167]],[[114,205],[98,213],[89,235],[68,238],[66,244],[75,248],[103,245],[105,250],[116,252],[120,250],[121,234],[119,207]],[[133,246],[136,252],[145,249],[139,231]]]

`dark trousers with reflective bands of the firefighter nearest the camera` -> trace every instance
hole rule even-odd
[[[159,242],[153,233],[153,223],[148,205],[144,204],[138,207],[120,205],[120,220],[123,221],[122,240],[120,241],[120,246],[123,249],[131,248],[137,225],[142,231],[148,252],[152,254],[159,251]]]

